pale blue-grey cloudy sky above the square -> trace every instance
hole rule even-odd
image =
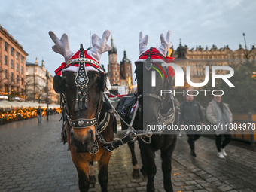
[[[231,50],[256,45],[256,1],[248,0],[154,0],[154,1],[86,1],[86,0],[0,0],[0,25],[13,35],[29,54],[28,62],[44,59],[45,67],[54,75],[64,58],[53,52],[51,30],[60,38],[69,35],[73,52],[90,47],[90,34],[102,37],[111,31],[117,47],[118,62],[126,50],[133,63],[139,58],[139,32],[149,36],[148,48],[160,46],[160,34],[172,30],[174,50],[181,44],[189,49],[197,46]],[[111,44],[111,38],[108,39]],[[107,69],[108,53],[100,61]],[[135,75],[133,75],[135,78]]]

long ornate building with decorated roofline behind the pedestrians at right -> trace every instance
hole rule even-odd
[[[182,46],[181,42],[177,50],[172,52],[172,57],[175,57],[175,64],[182,67],[184,71],[184,83],[186,84],[187,66],[190,66],[190,80],[194,83],[201,83],[205,80],[205,66],[229,66],[230,63],[241,59],[256,59],[256,49],[254,46],[251,50],[243,49],[239,45],[238,50],[231,50],[228,45],[217,48],[212,45],[212,48],[203,48],[201,46],[195,49],[188,49],[187,45]],[[186,85],[184,86],[186,87]],[[187,88],[191,88],[187,85]]]

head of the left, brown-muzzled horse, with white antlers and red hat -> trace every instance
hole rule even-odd
[[[92,36],[93,47],[78,52],[69,49],[69,37],[63,34],[59,39],[49,32],[55,45],[53,51],[65,58],[53,78],[56,93],[65,98],[66,123],[70,128],[69,142],[77,153],[89,152],[96,140],[96,123],[102,108],[102,92],[105,89],[105,74],[99,63],[102,53],[111,50],[107,44],[110,32],[106,30],[102,38]]]

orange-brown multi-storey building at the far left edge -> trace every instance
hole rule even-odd
[[[26,56],[22,45],[0,26],[0,99],[25,100]]]

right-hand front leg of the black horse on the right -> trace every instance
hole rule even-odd
[[[164,151],[161,150],[162,157],[162,171],[163,171],[163,187],[167,192],[172,192],[172,180],[171,180],[171,172],[172,172],[172,153],[175,149],[177,138],[173,139],[172,144],[169,148]]]

